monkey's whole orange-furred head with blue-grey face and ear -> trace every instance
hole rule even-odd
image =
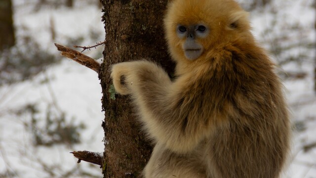
[[[164,27],[172,58],[185,62],[208,58],[249,32],[247,13],[234,0],[173,0]]]

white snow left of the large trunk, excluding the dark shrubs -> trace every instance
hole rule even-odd
[[[96,5],[78,5],[73,9],[44,9],[31,13],[32,5],[28,8],[28,3],[23,1],[14,1],[16,35],[23,36],[27,33],[35,37],[44,50],[50,50],[56,56],[60,52],[54,46],[55,42],[64,44],[68,38],[82,36],[87,37],[82,44],[94,44],[89,38],[91,29],[99,34],[99,41],[104,40],[104,27],[100,18],[102,13]],[[54,42],[49,32],[51,19],[57,34]],[[23,30],[25,28],[27,31]],[[92,57],[101,57],[102,47],[85,53]],[[47,79],[49,81],[44,82]],[[80,174],[76,172],[80,168],[91,175],[102,177],[98,166],[83,162],[77,164],[77,159],[70,154],[79,150],[103,152],[104,134],[101,124],[104,113],[101,108],[101,92],[97,73],[70,59],[62,59],[60,64],[47,68],[31,81],[0,87],[0,175],[9,170],[17,174],[12,177],[63,177],[65,172],[74,170],[75,174],[71,177],[78,178]],[[38,103],[39,110],[42,111],[40,115],[43,116],[47,103],[54,103],[66,112],[67,122],[84,123],[86,129],[80,134],[81,143],[73,146],[32,146],[32,135],[24,126],[30,121],[29,116],[17,118],[7,112],[27,103]],[[43,171],[43,165],[53,168],[51,171],[55,175]]]

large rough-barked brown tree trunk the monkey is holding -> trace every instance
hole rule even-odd
[[[103,91],[105,134],[104,178],[136,178],[152,150],[128,96],[110,99],[111,65],[142,58],[154,60],[170,73],[174,64],[164,41],[163,15],[168,0],[100,0],[106,31],[99,78]]]

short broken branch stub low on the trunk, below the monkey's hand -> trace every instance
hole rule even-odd
[[[102,168],[103,156],[99,153],[90,152],[90,151],[74,151],[70,153],[74,154],[74,156],[78,158],[78,163],[80,163],[80,161],[82,160],[82,161],[99,165]]]

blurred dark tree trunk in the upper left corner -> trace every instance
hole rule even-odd
[[[11,0],[0,0],[0,50],[15,44]]]

